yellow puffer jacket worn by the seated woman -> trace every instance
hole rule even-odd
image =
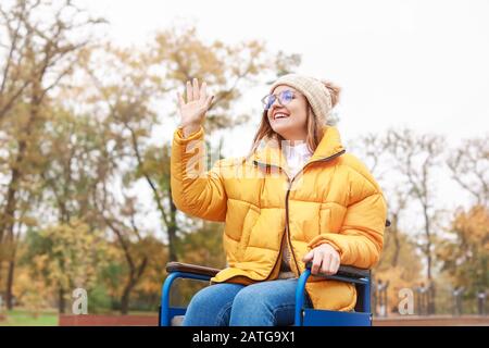
[[[171,185],[176,207],[190,215],[225,222],[228,268],[211,283],[252,284],[277,278],[281,240],[291,250],[290,269],[304,271],[302,257],[328,243],[341,264],[372,268],[383,249],[387,214],[383,192],[362,162],[344,153],[335,127],[325,135],[302,173],[290,179],[281,151],[266,146],[249,158],[203,166],[203,128],[184,138],[175,130]],[[351,284],[312,276],[306,291],[314,308],[349,311]]]

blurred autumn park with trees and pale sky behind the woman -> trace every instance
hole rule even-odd
[[[2,0],[0,325],[57,325],[76,288],[89,314],[156,315],[166,262],[223,268],[223,225],[171,201],[176,92],[208,83],[210,158],[239,157],[290,72],[342,88],[331,123],[385,191],[375,315],[397,315],[402,288],[418,315],[487,313],[488,14],[484,0]]]

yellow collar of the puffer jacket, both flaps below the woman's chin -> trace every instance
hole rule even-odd
[[[324,136],[308,163],[339,156],[344,151],[338,129],[333,126],[325,126],[323,129]],[[275,139],[262,140],[251,158],[258,164],[287,167],[286,158]]]

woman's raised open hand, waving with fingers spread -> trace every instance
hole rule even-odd
[[[187,82],[187,102],[178,92],[178,110],[181,117],[180,127],[183,127],[185,137],[200,128],[213,100],[214,96],[208,97],[206,84],[202,83],[202,86],[199,88],[197,78],[193,78],[192,83]]]

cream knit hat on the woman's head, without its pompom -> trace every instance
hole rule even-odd
[[[287,74],[279,77],[271,88],[271,94],[275,87],[287,85],[296,88],[308,98],[314,114],[319,120],[326,122],[333,109],[331,95],[328,88],[317,78],[299,74]]]

